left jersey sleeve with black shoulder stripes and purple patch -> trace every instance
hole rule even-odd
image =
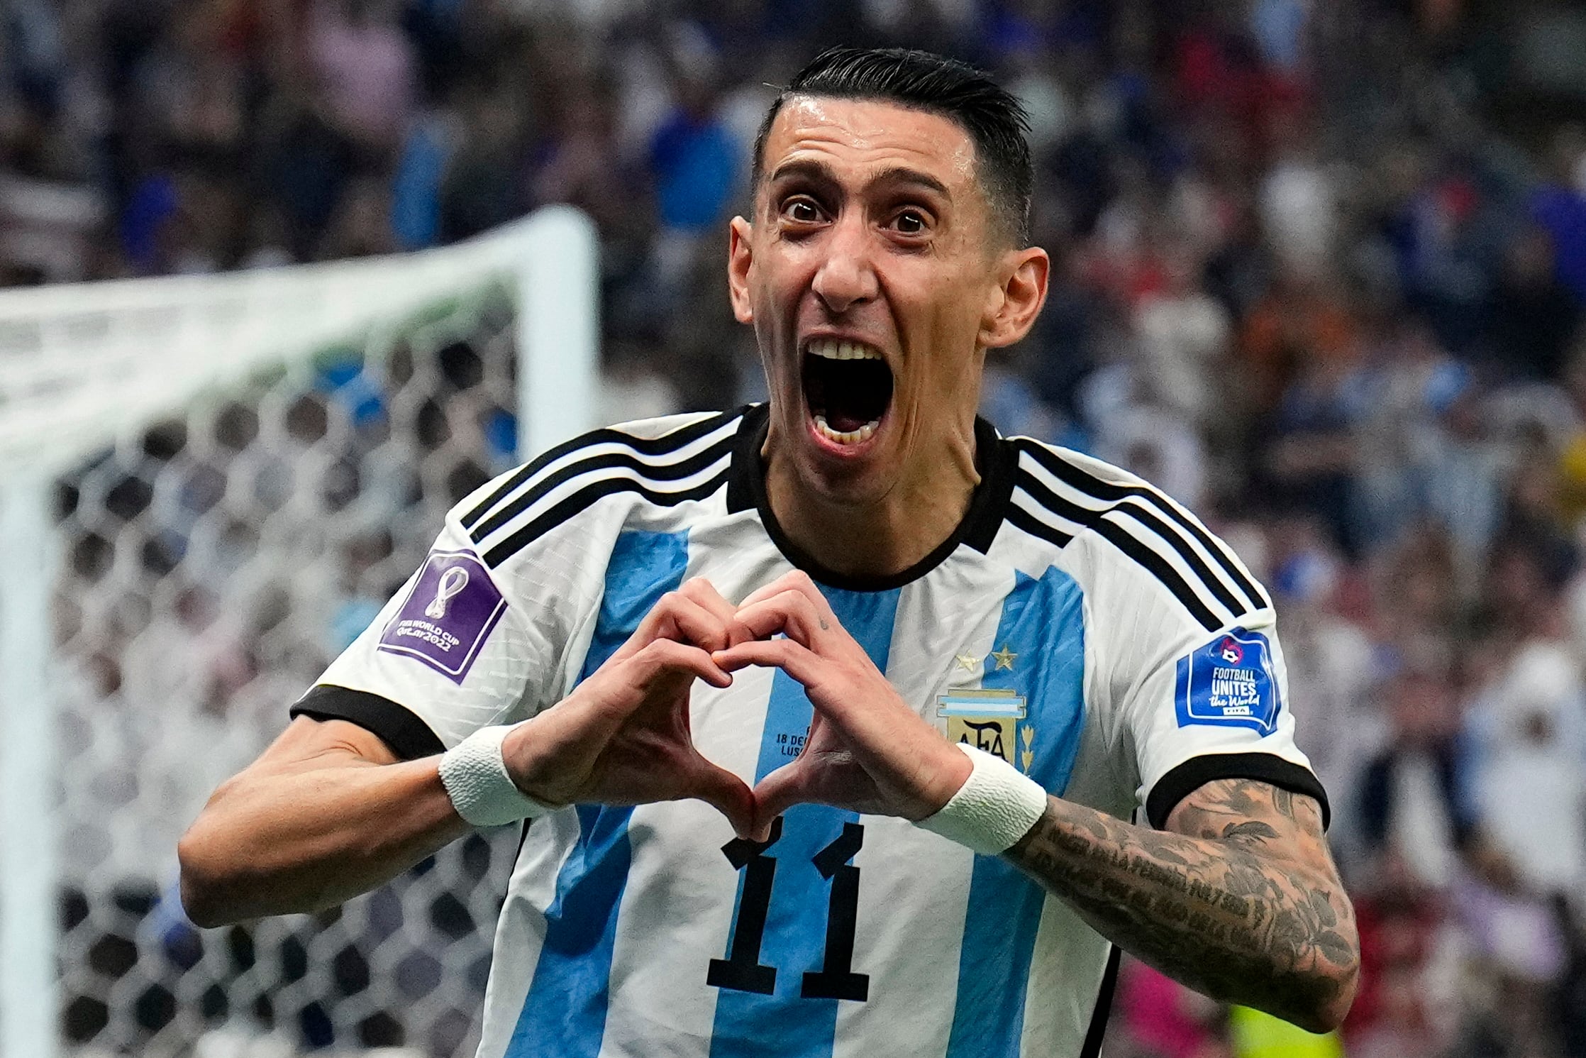
[[[550,707],[584,674],[622,535],[674,533],[682,504],[720,492],[742,422],[593,430],[485,482],[293,715],[351,720],[416,758]]]

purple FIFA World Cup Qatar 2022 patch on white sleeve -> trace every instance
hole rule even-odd
[[[379,649],[423,661],[462,684],[504,612],[506,600],[479,558],[466,550],[433,550],[381,633]]]

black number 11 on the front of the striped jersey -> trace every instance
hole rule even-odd
[[[744,841],[734,838],[722,845],[722,852],[744,876],[744,896],[737,903],[737,922],[728,941],[728,958],[711,960],[706,983],[717,988],[757,991],[769,996],[776,991],[777,969],[760,964],[760,945],[766,936],[766,915],[771,910],[771,880],[777,872],[776,857],[766,849],[782,838],[782,818],[771,823],[768,841]],[[869,998],[869,974],[853,972],[853,933],[860,915],[860,869],[849,863],[864,845],[864,828],[844,823],[842,834],[815,853],[815,869],[831,880],[831,898],[826,904],[826,952],[818,971],[804,974],[799,995],[807,999],[855,999]]]

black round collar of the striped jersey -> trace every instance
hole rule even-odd
[[[834,569],[826,569],[799,549],[782,531],[777,516],[771,512],[771,500],[766,496],[766,468],[760,460],[760,450],[764,447],[769,428],[769,404],[752,404],[744,409],[744,419],[737,427],[737,439],[733,446],[726,509],[731,512],[750,508],[757,509],[777,550],[814,579],[834,588],[849,592],[899,588],[942,565],[960,544],[969,544],[985,554],[991,547],[998,528],[1002,525],[1009,496],[1013,495],[1013,471],[1018,465],[1018,452],[1010,443],[998,436],[996,428],[990,422],[975,417],[975,470],[980,473],[980,484],[975,485],[975,493],[969,500],[969,511],[964,512],[964,520],[958,523],[958,528],[937,544],[931,554],[902,573],[895,573],[890,577],[847,576]]]

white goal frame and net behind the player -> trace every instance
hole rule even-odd
[[[582,428],[587,220],[0,293],[0,1058],[471,1053],[517,833],[198,931],[174,847],[422,562]]]

